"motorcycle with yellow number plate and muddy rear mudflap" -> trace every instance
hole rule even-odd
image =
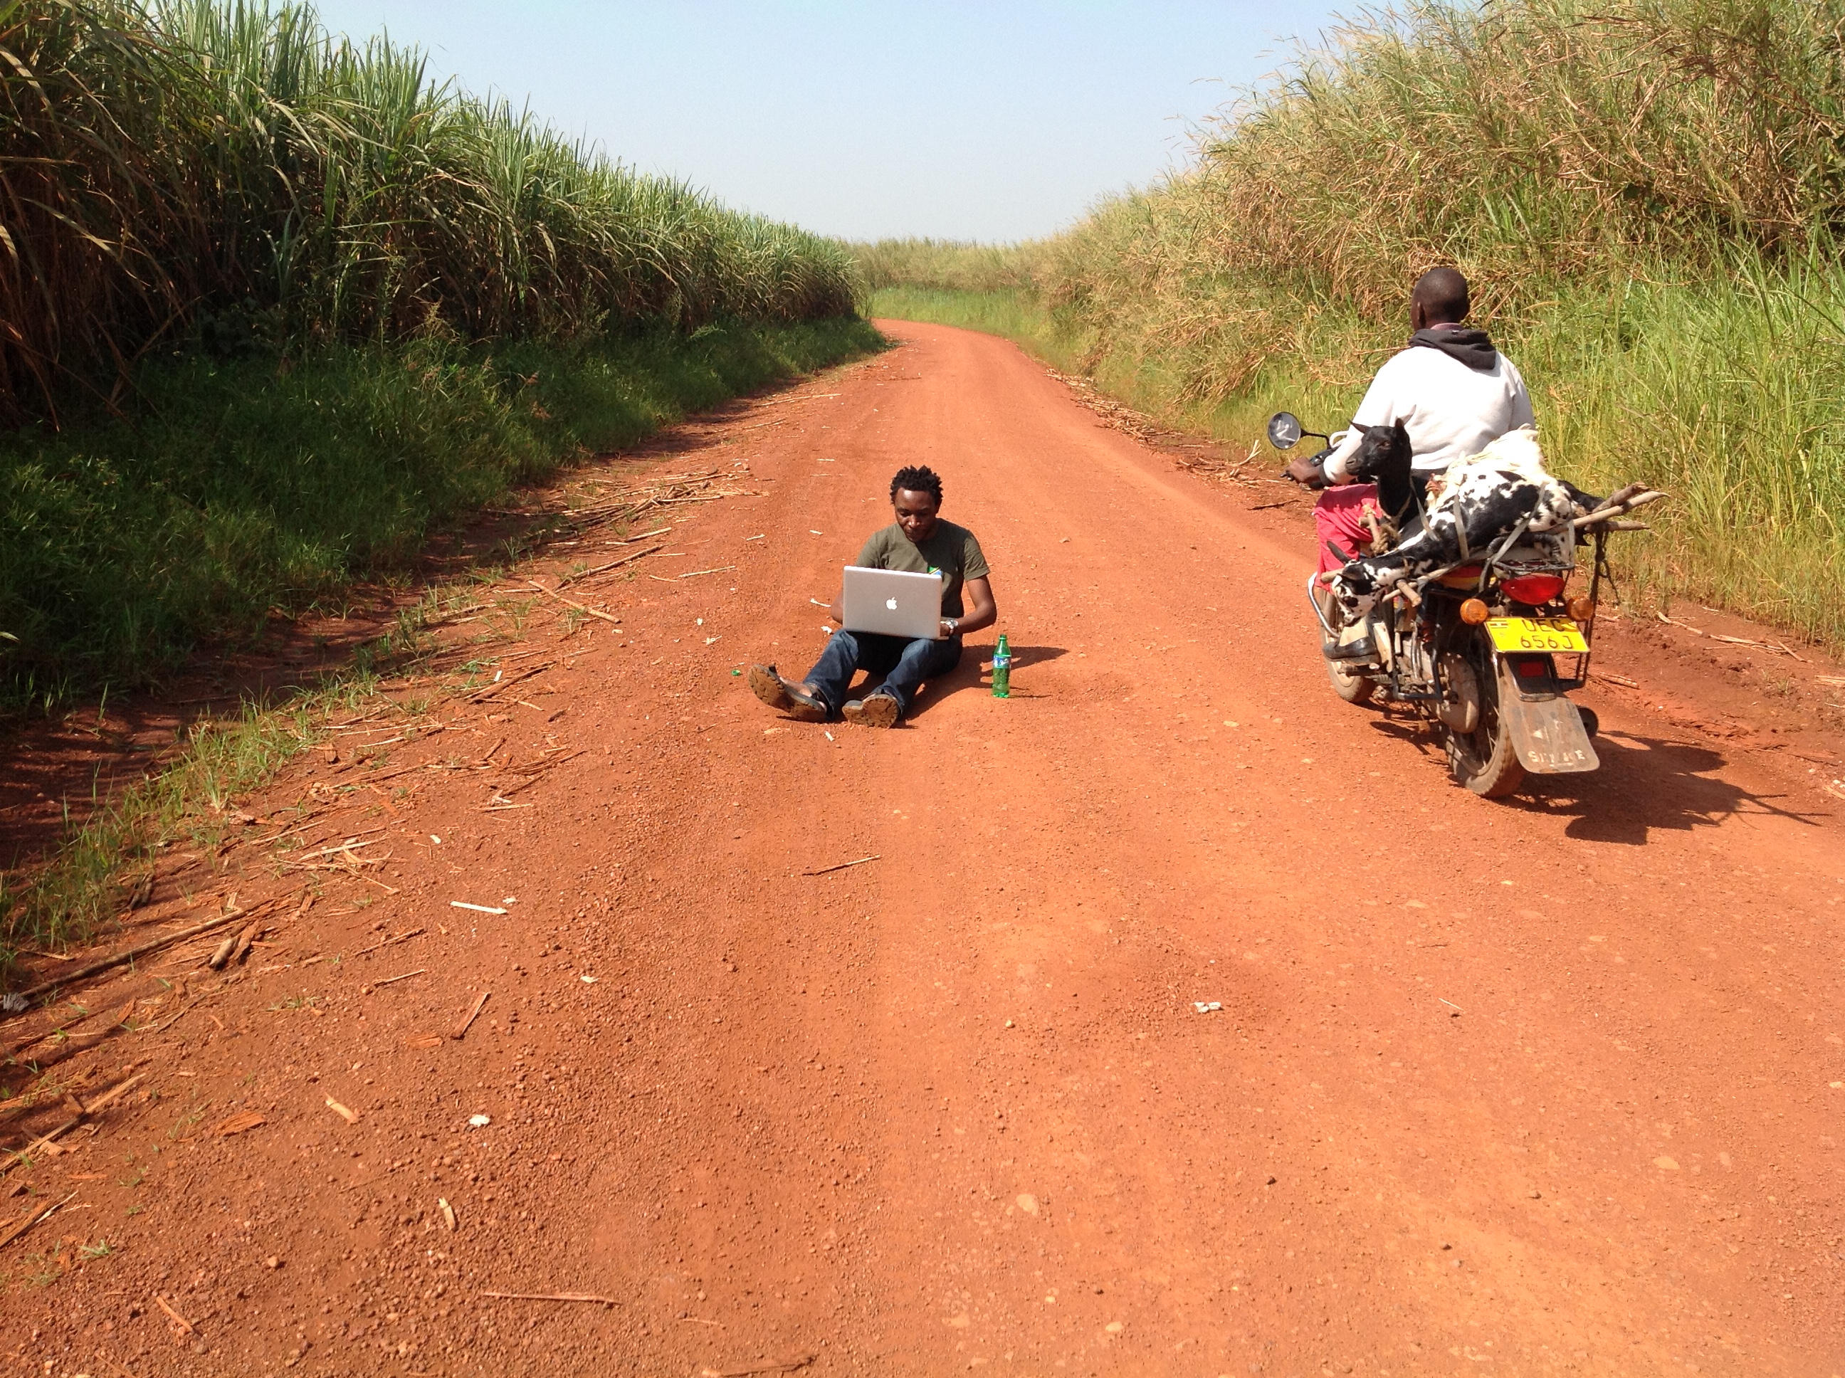
[[[1310,463],[1325,465],[1338,437],[1303,430],[1280,411],[1268,437],[1290,450],[1306,435],[1325,441]],[[1448,773],[1485,799],[1504,799],[1526,775],[1594,771],[1596,714],[1570,701],[1589,679],[1596,605],[1613,585],[1611,531],[1646,529],[1627,513],[1662,498],[1629,485],[1561,529],[1509,533],[1459,563],[1380,588],[1356,611],[1332,594],[1330,576],[1312,576],[1308,603],[1325,635],[1327,675],[1347,703],[1408,705],[1434,725]],[[1373,550],[1391,531],[1373,518]],[[1577,548],[1590,546],[1587,590],[1570,592]]]

